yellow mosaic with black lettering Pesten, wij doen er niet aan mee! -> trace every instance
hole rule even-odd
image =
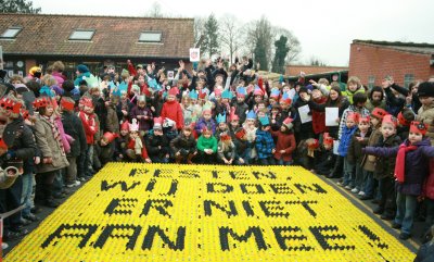
[[[412,261],[298,166],[110,163],[5,261]]]

